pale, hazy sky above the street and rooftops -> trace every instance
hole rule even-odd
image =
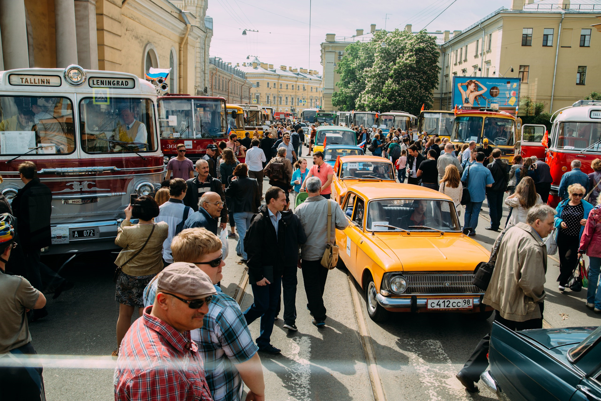
[[[309,45],[309,1],[258,2],[252,0],[210,0],[207,16],[213,17],[211,57],[242,64],[246,56],[258,56],[263,63],[322,71],[320,43],[326,34],[352,36],[356,29],[376,28],[413,31],[462,30],[499,7],[511,7],[511,0],[364,0],[317,1],[311,4],[311,45]],[[370,7],[373,4],[373,7]],[[449,6],[441,16],[436,17]],[[388,13],[388,19],[385,20]],[[259,32],[243,29],[254,29]],[[252,57],[251,57],[252,60]]]

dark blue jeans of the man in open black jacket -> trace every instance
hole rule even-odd
[[[275,268],[275,266],[273,267]],[[266,286],[257,286],[257,283],[251,283],[254,302],[244,312],[247,325],[259,317],[261,318],[261,333],[257,338],[257,346],[260,349],[269,345],[273,331],[275,308],[278,307],[279,294],[282,289],[282,278],[277,276],[276,274],[273,277],[273,283]]]

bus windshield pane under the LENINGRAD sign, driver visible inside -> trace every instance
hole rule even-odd
[[[117,97],[109,104],[79,103],[81,141],[86,153],[154,152],[154,113],[150,99]]]

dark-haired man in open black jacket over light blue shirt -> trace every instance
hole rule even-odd
[[[259,213],[252,218],[245,237],[248,280],[252,286],[254,303],[244,312],[244,317],[248,325],[261,318],[261,334],[257,338],[259,350],[279,354],[281,350],[270,344],[270,337],[284,270],[287,231],[281,213],[286,206],[284,190],[277,186],[267,189],[265,202]]]

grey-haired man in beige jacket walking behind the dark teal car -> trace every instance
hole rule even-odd
[[[555,209],[537,204],[528,210],[526,223],[517,223],[495,241],[495,269],[482,302],[495,309],[495,322],[510,330],[543,328],[543,300],[547,272],[547,247],[543,238],[551,233]],[[457,373],[468,391],[488,366],[490,334],[480,340],[474,353]]]

